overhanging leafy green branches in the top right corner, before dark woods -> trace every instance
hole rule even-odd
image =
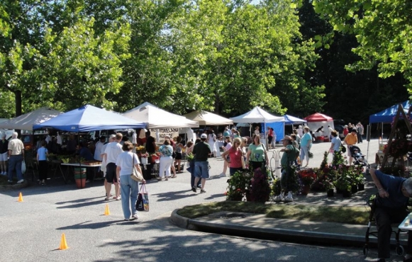
[[[313,5],[333,30],[356,36],[359,46],[353,52],[362,59],[347,69],[371,69],[377,64],[382,78],[401,72],[412,91],[412,1],[313,0]]]

